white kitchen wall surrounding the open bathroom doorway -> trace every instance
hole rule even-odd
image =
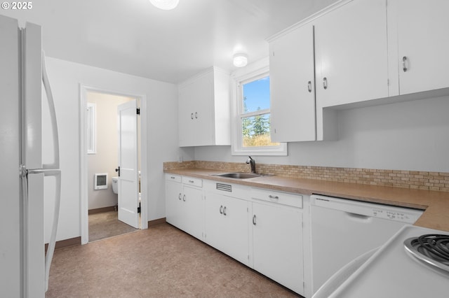
[[[163,162],[193,156],[192,149],[177,146],[177,87],[60,59],[47,58],[48,77],[55,98],[60,134],[62,201],[57,240],[81,236],[79,170],[79,86],[87,85],[147,99],[148,220],[165,217]],[[44,118],[43,125],[48,125]],[[51,140],[44,140],[44,144]],[[46,151],[46,150],[44,150]],[[182,152],[182,153],[181,153]],[[45,156],[44,156],[45,159]],[[47,190],[46,190],[47,192]],[[53,201],[46,201],[46,242],[50,238]]]

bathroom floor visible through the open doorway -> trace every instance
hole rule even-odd
[[[138,231],[117,219],[117,211],[89,215],[89,242]]]

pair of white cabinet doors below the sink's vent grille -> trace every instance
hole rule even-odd
[[[248,202],[206,194],[206,243],[248,264]]]

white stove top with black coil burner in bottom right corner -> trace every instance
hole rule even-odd
[[[430,236],[425,247],[439,249],[438,261],[421,260],[410,253],[406,243],[417,237]],[[411,240],[409,240],[411,239]],[[433,264],[430,264],[433,263]],[[436,229],[406,225],[329,297],[448,297],[449,295],[449,233]]]

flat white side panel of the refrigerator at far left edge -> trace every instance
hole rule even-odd
[[[18,22],[0,15],[0,289],[20,297],[20,126]]]

